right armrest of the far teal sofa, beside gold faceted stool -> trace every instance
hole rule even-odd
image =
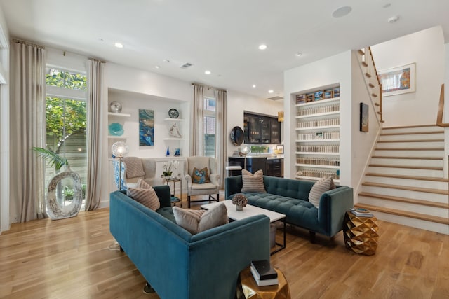
[[[353,191],[348,186],[342,186],[321,195],[318,221],[329,237],[343,229],[344,213],[354,206]]]

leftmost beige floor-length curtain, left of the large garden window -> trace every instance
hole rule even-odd
[[[46,51],[17,40],[11,48],[11,215],[25,222],[46,216],[45,162],[32,151],[46,143]]]

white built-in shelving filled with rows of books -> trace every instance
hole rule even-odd
[[[305,101],[295,104],[295,178],[316,181],[331,176],[339,182],[340,97]]]

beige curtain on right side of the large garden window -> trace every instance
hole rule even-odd
[[[88,65],[87,102],[87,186],[86,211],[95,210],[101,196],[101,153],[102,153],[102,87],[104,62],[91,59]]]

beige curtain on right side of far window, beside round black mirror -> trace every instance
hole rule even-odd
[[[215,118],[217,124],[215,126],[215,158],[217,158],[218,173],[222,178],[220,188],[224,188],[224,178],[226,177],[225,167],[227,165],[227,91],[217,90],[215,99],[217,101],[217,105],[215,106]]]

